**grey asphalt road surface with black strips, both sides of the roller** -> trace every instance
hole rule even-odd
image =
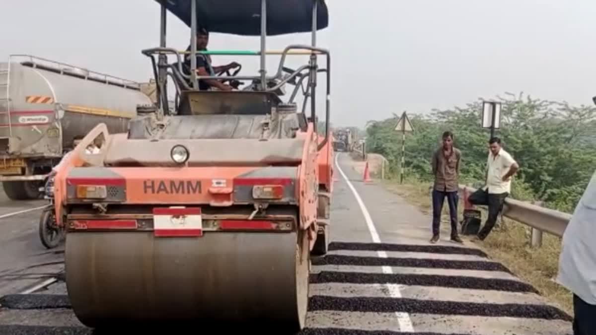
[[[429,217],[380,185],[364,184],[352,160],[338,157],[332,250],[313,260],[303,334],[572,334],[569,315],[480,250],[449,242],[448,231],[440,243],[430,245]],[[1,271],[60,260],[60,254],[40,255],[38,215],[0,219]],[[61,271],[52,266],[54,273]],[[0,284],[7,294],[33,283],[13,279]],[[0,334],[92,333],[68,308],[61,281],[30,294],[4,296],[0,303]]]

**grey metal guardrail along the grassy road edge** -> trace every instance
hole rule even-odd
[[[464,193],[464,189],[467,189],[470,194],[476,191],[476,188],[460,185],[460,194]],[[563,237],[563,232],[572,218],[569,213],[558,212],[512,198],[505,199],[501,215],[537,229],[539,234],[548,232],[558,237]],[[540,244],[541,235],[534,237],[534,234],[535,232],[532,233],[532,240],[536,240],[536,244]]]

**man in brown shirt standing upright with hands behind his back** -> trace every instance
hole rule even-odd
[[[434,175],[433,186],[433,238],[430,243],[439,241],[439,225],[443,203],[447,197],[451,217],[451,240],[462,243],[457,233],[458,178],[460,176],[461,151],[453,147],[453,134],[443,133],[443,145],[434,151],[431,159]]]

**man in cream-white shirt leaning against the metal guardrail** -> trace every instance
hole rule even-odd
[[[486,161],[486,186],[472,193],[468,198],[471,204],[488,205],[488,218],[478,232],[479,240],[484,240],[495,226],[505,198],[511,193],[511,176],[519,170],[516,160],[501,148],[500,138],[491,138],[489,148]]]

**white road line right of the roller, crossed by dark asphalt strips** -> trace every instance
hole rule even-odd
[[[352,190],[352,193],[354,194],[356,201],[358,201],[358,205],[360,206],[362,215],[364,215],[364,219],[367,222],[368,230],[371,233],[373,242],[381,243],[381,238],[378,236],[377,229],[374,227],[373,219],[371,218],[370,213],[368,213],[367,207],[364,206],[364,202],[362,201],[362,198],[359,196],[358,192],[356,192],[354,185],[352,185],[350,180],[347,179],[346,174],[343,173],[342,168],[340,168],[339,163],[337,162],[337,157],[339,157],[339,154],[336,154],[336,159],[335,159],[335,165],[337,167],[337,170],[342,175],[343,180],[346,181],[347,186],[350,188],[350,190]],[[377,252],[377,255],[380,258],[387,258],[387,253],[384,251]],[[383,269],[384,274],[393,274],[393,270],[391,269],[390,266],[383,266],[382,269]],[[398,285],[385,284],[385,287],[387,287],[387,291],[389,291],[390,297],[392,297],[392,298],[401,298],[402,297],[402,293],[401,293],[401,291],[399,291]],[[396,315],[396,317],[398,317],[399,331],[402,331],[403,333],[414,333],[414,325],[412,325],[412,320],[410,319],[408,313],[396,312],[395,315]]]

